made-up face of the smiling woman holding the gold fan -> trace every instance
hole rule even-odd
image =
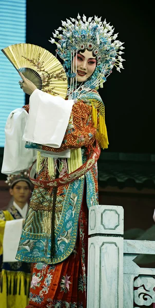
[[[77,81],[86,81],[94,72],[96,67],[95,56],[92,55],[92,51],[80,52],[77,54],[77,68],[76,68],[76,55],[74,56],[74,72],[77,69]]]

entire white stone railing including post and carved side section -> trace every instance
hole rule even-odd
[[[122,206],[90,208],[87,308],[133,308],[133,300],[139,308],[155,302],[155,269],[133,262],[139,254],[155,254],[155,241],[124,240],[123,229]]]

